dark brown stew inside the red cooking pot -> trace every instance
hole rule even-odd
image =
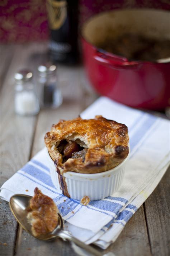
[[[109,36],[96,46],[129,60],[156,61],[170,57],[170,40],[152,39],[133,33],[113,39]]]

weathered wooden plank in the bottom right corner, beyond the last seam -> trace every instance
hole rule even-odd
[[[147,228],[154,256],[170,255],[170,167],[145,202]]]

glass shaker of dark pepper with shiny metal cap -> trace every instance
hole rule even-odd
[[[59,107],[62,104],[62,94],[57,84],[56,66],[47,62],[38,67],[38,73],[41,87],[41,107]]]

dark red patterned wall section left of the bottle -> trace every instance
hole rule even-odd
[[[47,38],[46,0],[0,1],[0,41],[41,41]]]

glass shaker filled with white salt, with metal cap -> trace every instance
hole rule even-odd
[[[35,115],[39,112],[39,102],[33,83],[33,74],[22,69],[15,73],[15,113]]]

